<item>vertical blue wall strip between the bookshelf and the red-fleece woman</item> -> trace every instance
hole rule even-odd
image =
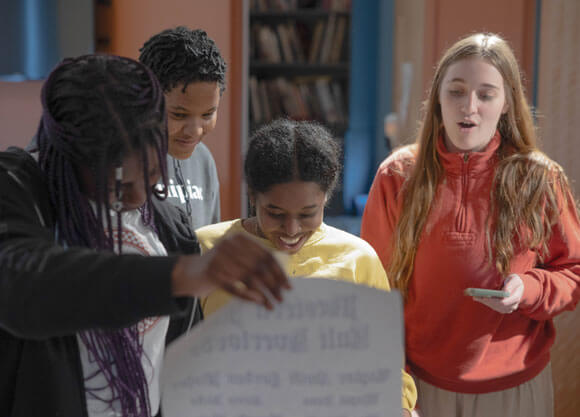
[[[390,149],[383,117],[391,107],[394,0],[352,2],[349,129],[344,140],[343,202],[366,194],[378,163]]]

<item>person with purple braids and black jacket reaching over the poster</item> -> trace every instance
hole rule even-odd
[[[195,297],[272,308],[288,281],[243,235],[199,256],[162,201],[165,103],[145,66],[67,59],[42,105],[36,151],[0,153],[0,415],[159,415],[164,344],[200,319]]]

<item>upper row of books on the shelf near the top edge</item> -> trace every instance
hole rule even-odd
[[[254,59],[274,63],[329,64],[343,59],[348,20],[345,16],[331,14],[313,25],[254,23],[251,30],[250,48]]]

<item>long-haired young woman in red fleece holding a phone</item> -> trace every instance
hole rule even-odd
[[[361,235],[405,296],[423,417],[553,415],[552,318],[580,298],[580,222],[506,41],[474,34],[445,52],[416,143],[379,167]]]

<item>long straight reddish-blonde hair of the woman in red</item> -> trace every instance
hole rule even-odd
[[[505,40],[495,34],[479,33],[451,46],[437,65],[433,83],[424,103],[425,116],[416,144],[418,153],[413,170],[403,185],[403,210],[387,267],[392,285],[405,296],[413,273],[415,255],[425,227],[443,168],[436,149],[442,132],[439,91],[447,69],[453,63],[482,58],[501,74],[508,110],[498,122],[501,144],[498,166],[491,191],[487,247],[489,261],[506,275],[516,244],[547,254],[546,242],[558,221],[557,194],[569,189],[562,169],[539,151],[530,107],[524,95],[516,58]],[[493,229],[490,232],[490,229]]]

